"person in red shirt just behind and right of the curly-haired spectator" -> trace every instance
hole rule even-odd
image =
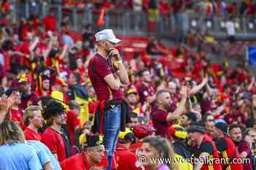
[[[67,112],[67,128],[69,130],[70,145],[74,144],[74,134],[75,130],[79,128],[80,120],[78,116],[80,115],[80,105],[77,101],[69,101],[69,111]]]

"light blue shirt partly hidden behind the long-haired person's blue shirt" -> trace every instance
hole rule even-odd
[[[45,144],[39,141],[34,141],[34,140],[26,141],[26,144],[29,144],[32,147],[34,147],[42,166],[45,163],[50,162],[53,165],[53,169],[61,170],[61,166],[59,166],[59,162],[56,160],[56,158],[53,156],[53,154],[50,152],[49,148]]]

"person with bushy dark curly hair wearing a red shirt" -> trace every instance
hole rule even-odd
[[[58,101],[50,101],[42,112],[42,117],[46,120],[48,128],[42,134],[41,142],[44,143],[59,162],[68,158],[69,146],[64,142],[61,132],[61,125],[66,124],[67,115],[64,107]]]

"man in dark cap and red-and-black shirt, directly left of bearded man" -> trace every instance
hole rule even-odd
[[[211,130],[211,136],[215,140],[219,158],[225,158],[226,160],[226,163],[222,163],[222,169],[243,170],[241,163],[228,162],[228,160],[232,161],[233,159],[240,158],[240,155],[233,141],[227,136],[227,124],[222,122],[216,123]]]

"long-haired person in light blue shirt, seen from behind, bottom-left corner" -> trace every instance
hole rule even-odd
[[[25,136],[17,123],[0,123],[0,169],[41,170],[33,147],[25,144]]]

